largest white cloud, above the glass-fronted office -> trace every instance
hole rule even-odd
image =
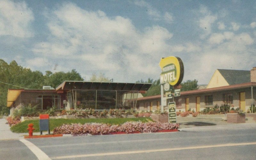
[[[150,62],[158,61],[159,53],[170,50],[167,41],[172,33],[160,26],[140,32],[130,19],[109,18],[102,11],[86,11],[71,3],[63,4],[47,17],[49,41],[37,43],[32,51],[36,56],[61,57],[65,63],[60,62],[58,68],[74,68],[72,65],[76,64],[77,71],[82,70],[80,73],[84,75],[88,74],[83,70],[85,65],[87,70],[102,71],[106,76],[118,72],[125,75],[145,72],[138,68],[151,68],[147,73],[158,75],[158,66],[153,69],[155,66]]]

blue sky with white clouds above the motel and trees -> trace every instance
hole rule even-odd
[[[256,66],[256,1],[0,0],[0,59],[39,70],[76,69],[85,80],[160,78],[177,56],[184,78]]]

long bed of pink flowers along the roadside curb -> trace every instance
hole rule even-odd
[[[82,124],[65,124],[56,127],[53,130],[54,134],[72,134],[72,135],[107,135],[107,134],[122,134],[122,133],[150,133],[160,130],[178,129],[178,123],[157,123],[157,122],[126,122],[122,125],[109,125],[102,123],[86,123]]]

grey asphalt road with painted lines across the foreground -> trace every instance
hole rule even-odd
[[[256,125],[236,126],[184,128],[172,133],[0,141],[0,157],[35,159],[29,147],[42,159],[256,159]]]

